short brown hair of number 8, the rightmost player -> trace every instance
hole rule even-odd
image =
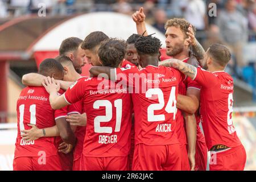
[[[225,67],[231,58],[228,47],[218,43],[212,44],[212,46],[209,47],[208,53],[213,61],[222,67]]]

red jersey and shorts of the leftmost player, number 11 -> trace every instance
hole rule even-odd
[[[27,124],[39,129],[55,126],[57,111],[49,104],[49,94],[44,87],[27,86],[16,104],[18,135],[15,143],[14,170],[61,170],[55,137],[42,137],[26,142],[20,130],[29,130]]]

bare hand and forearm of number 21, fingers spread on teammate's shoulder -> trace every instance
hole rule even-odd
[[[57,93],[60,89],[59,82],[55,82],[54,78],[47,77],[46,80],[42,82],[44,88],[49,93],[49,102],[52,109],[61,109],[64,106],[68,105],[68,102],[65,100],[64,94],[59,96]]]

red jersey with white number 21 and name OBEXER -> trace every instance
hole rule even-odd
[[[118,82],[80,78],[65,92],[68,103],[83,100],[87,114],[82,154],[88,157],[127,156],[130,152],[131,96]]]

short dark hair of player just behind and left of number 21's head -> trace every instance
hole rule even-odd
[[[100,43],[104,40],[108,40],[108,35],[104,34],[101,31],[91,32],[89,35],[86,36],[84,41],[81,44],[82,49],[89,49],[92,50],[96,46],[100,46]]]

